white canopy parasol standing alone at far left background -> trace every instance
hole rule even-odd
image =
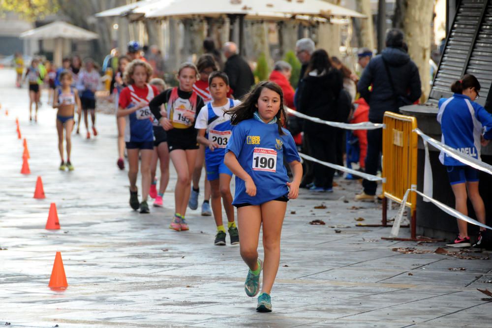
[[[97,39],[98,37],[99,36],[94,32],[61,21],[25,31],[20,35],[20,38],[22,39],[54,39],[55,51],[53,54],[53,62],[58,66],[62,64],[63,39],[92,40]]]

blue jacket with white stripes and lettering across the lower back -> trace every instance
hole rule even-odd
[[[480,136],[492,139],[492,115],[461,93],[439,100],[437,121],[441,124],[443,144],[477,159],[480,159]],[[466,165],[442,151],[439,160],[446,166]]]

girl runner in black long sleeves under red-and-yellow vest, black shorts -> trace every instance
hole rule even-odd
[[[169,228],[188,230],[184,220],[188,205],[191,175],[195,166],[198,149],[194,123],[198,111],[204,106],[203,99],[193,91],[198,69],[193,63],[185,62],[178,70],[179,87],[167,89],[156,96],[149,104],[155,119],[167,131],[167,145],[173,165],[178,173],[174,189],[176,212]],[[166,104],[166,113],[160,113],[160,105]]]

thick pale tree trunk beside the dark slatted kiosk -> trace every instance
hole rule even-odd
[[[429,60],[431,58],[433,15],[434,1],[406,0],[403,31],[408,45],[408,54],[419,68],[422,82],[421,102],[427,100],[431,90]]]

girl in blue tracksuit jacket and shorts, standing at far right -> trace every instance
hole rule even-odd
[[[492,139],[492,115],[474,102],[479,97],[480,83],[473,75],[466,74],[451,86],[451,98],[439,100],[437,121],[441,124],[442,143],[474,158],[480,159],[480,146]],[[456,209],[468,215],[467,196],[470,198],[478,221],[485,224],[485,206],[478,191],[478,170],[461,163],[441,151],[439,160],[446,166],[449,182],[456,199]],[[468,191],[468,195],[467,195]],[[458,220],[460,233],[450,247],[470,247],[467,223]],[[485,228],[480,228],[480,231]],[[482,236],[479,233],[477,245]]]

